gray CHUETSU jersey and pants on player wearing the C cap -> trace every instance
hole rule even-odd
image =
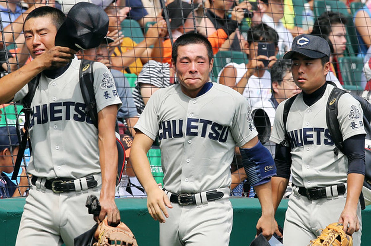
[[[280,103],[275,116],[270,140],[280,143],[285,138],[285,129],[289,134],[292,165],[291,174],[293,194],[285,216],[283,244],[285,246],[307,245],[330,223],[337,221],[347,199],[336,195],[309,200],[298,193],[298,186],[306,189],[326,187],[347,182],[348,159],[339,152],[333,152],[334,142],[326,124],[326,105],[334,86],[328,84],[324,95],[312,106],[307,106],[300,93],[293,102],[286,126],[283,126],[283,107]],[[359,102],[350,94],[343,94],[338,101],[338,120],[343,139],[357,134],[365,134]],[[345,184],[346,185],[346,184]],[[336,187],[336,186],[334,186]],[[337,190],[336,190],[337,192]],[[332,194],[332,192],[331,192]],[[361,208],[358,205],[357,215],[361,223]],[[360,245],[361,230],[353,234],[354,245]]]

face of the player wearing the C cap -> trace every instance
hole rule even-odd
[[[322,66],[321,59],[311,59],[301,54],[292,57],[291,72],[295,84],[306,94],[311,94],[326,83],[330,63]]]

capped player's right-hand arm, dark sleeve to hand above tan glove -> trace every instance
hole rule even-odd
[[[365,174],[365,135],[358,134],[344,140],[344,154],[348,157],[347,200],[339,222],[344,224],[344,232],[352,235],[359,230],[357,207]],[[347,226],[349,224],[349,227]]]

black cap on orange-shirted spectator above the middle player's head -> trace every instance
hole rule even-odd
[[[167,11],[168,17],[169,19],[171,19],[171,29],[177,29],[184,24],[184,22],[187,20],[188,15],[195,8],[197,8],[197,4],[192,7],[192,5],[187,2],[175,0],[164,8],[164,10],[162,11],[162,17],[166,17],[164,12]]]

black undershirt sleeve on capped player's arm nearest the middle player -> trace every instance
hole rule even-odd
[[[276,144],[275,164],[277,168],[277,177],[288,179],[291,173],[291,163],[290,147]]]

